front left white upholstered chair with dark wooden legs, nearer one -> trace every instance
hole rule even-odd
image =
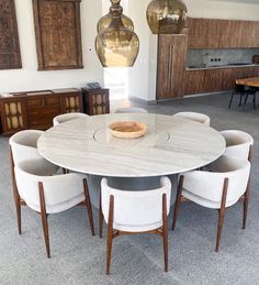
[[[42,158],[23,161],[15,165],[14,171],[20,197],[42,216],[47,257],[50,257],[47,221],[49,213],[61,212],[76,205],[87,206],[91,233],[94,235],[86,175],[69,173],[49,176],[48,167]]]

